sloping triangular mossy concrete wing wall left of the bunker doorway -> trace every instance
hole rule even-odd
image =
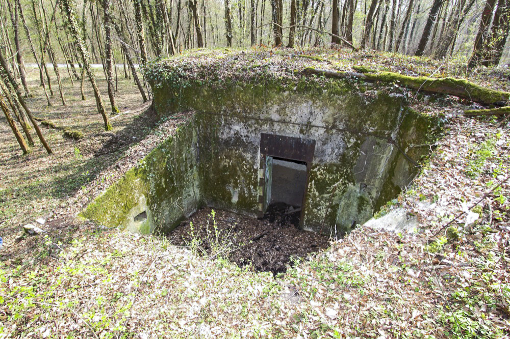
[[[107,227],[151,233],[167,232],[200,205],[193,121],[150,152],[81,212]],[[135,217],[146,212],[146,219]]]

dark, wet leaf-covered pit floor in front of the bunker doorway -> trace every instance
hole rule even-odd
[[[212,211],[202,208],[183,221],[168,234],[170,242],[190,247],[193,232],[199,252],[209,256],[219,252],[239,267],[251,264],[253,270],[274,275],[284,273],[287,265],[293,264],[291,257],[306,258],[329,246],[329,237],[297,229],[300,212],[292,213],[288,206],[271,205],[262,219],[214,210],[216,229]]]

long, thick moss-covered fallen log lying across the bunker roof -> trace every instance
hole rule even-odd
[[[311,67],[305,68],[303,72],[333,78],[359,78],[365,81],[398,83],[400,86],[412,90],[453,95],[458,98],[468,99],[486,105],[505,106],[510,102],[510,93],[484,88],[464,79],[436,79],[428,78],[425,76],[414,77],[393,72],[377,72],[365,74],[345,71],[337,72]]]

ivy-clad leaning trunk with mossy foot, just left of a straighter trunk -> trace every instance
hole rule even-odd
[[[97,88],[94,73],[90,68],[89,53],[83,41],[82,35],[80,34],[80,27],[78,26],[77,19],[74,13],[74,4],[72,3],[72,0],[61,0],[60,6],[62,7],[62,10],[67,16],[71,36],[76,41],[76,46],[78,47],[78,51],[82,57],[83,67],[85,68],[90,83],[92,84],[92,89],[94,90],[94,97],[96,99],[97,110],[101,117],[103,117],[105,130],[109,131],[112,129],[112,126],[110,125],[110,120],[106,115],[105,105],[103,104],[103,99],[101,99],[101,94],[99,93],[99,89]]]

